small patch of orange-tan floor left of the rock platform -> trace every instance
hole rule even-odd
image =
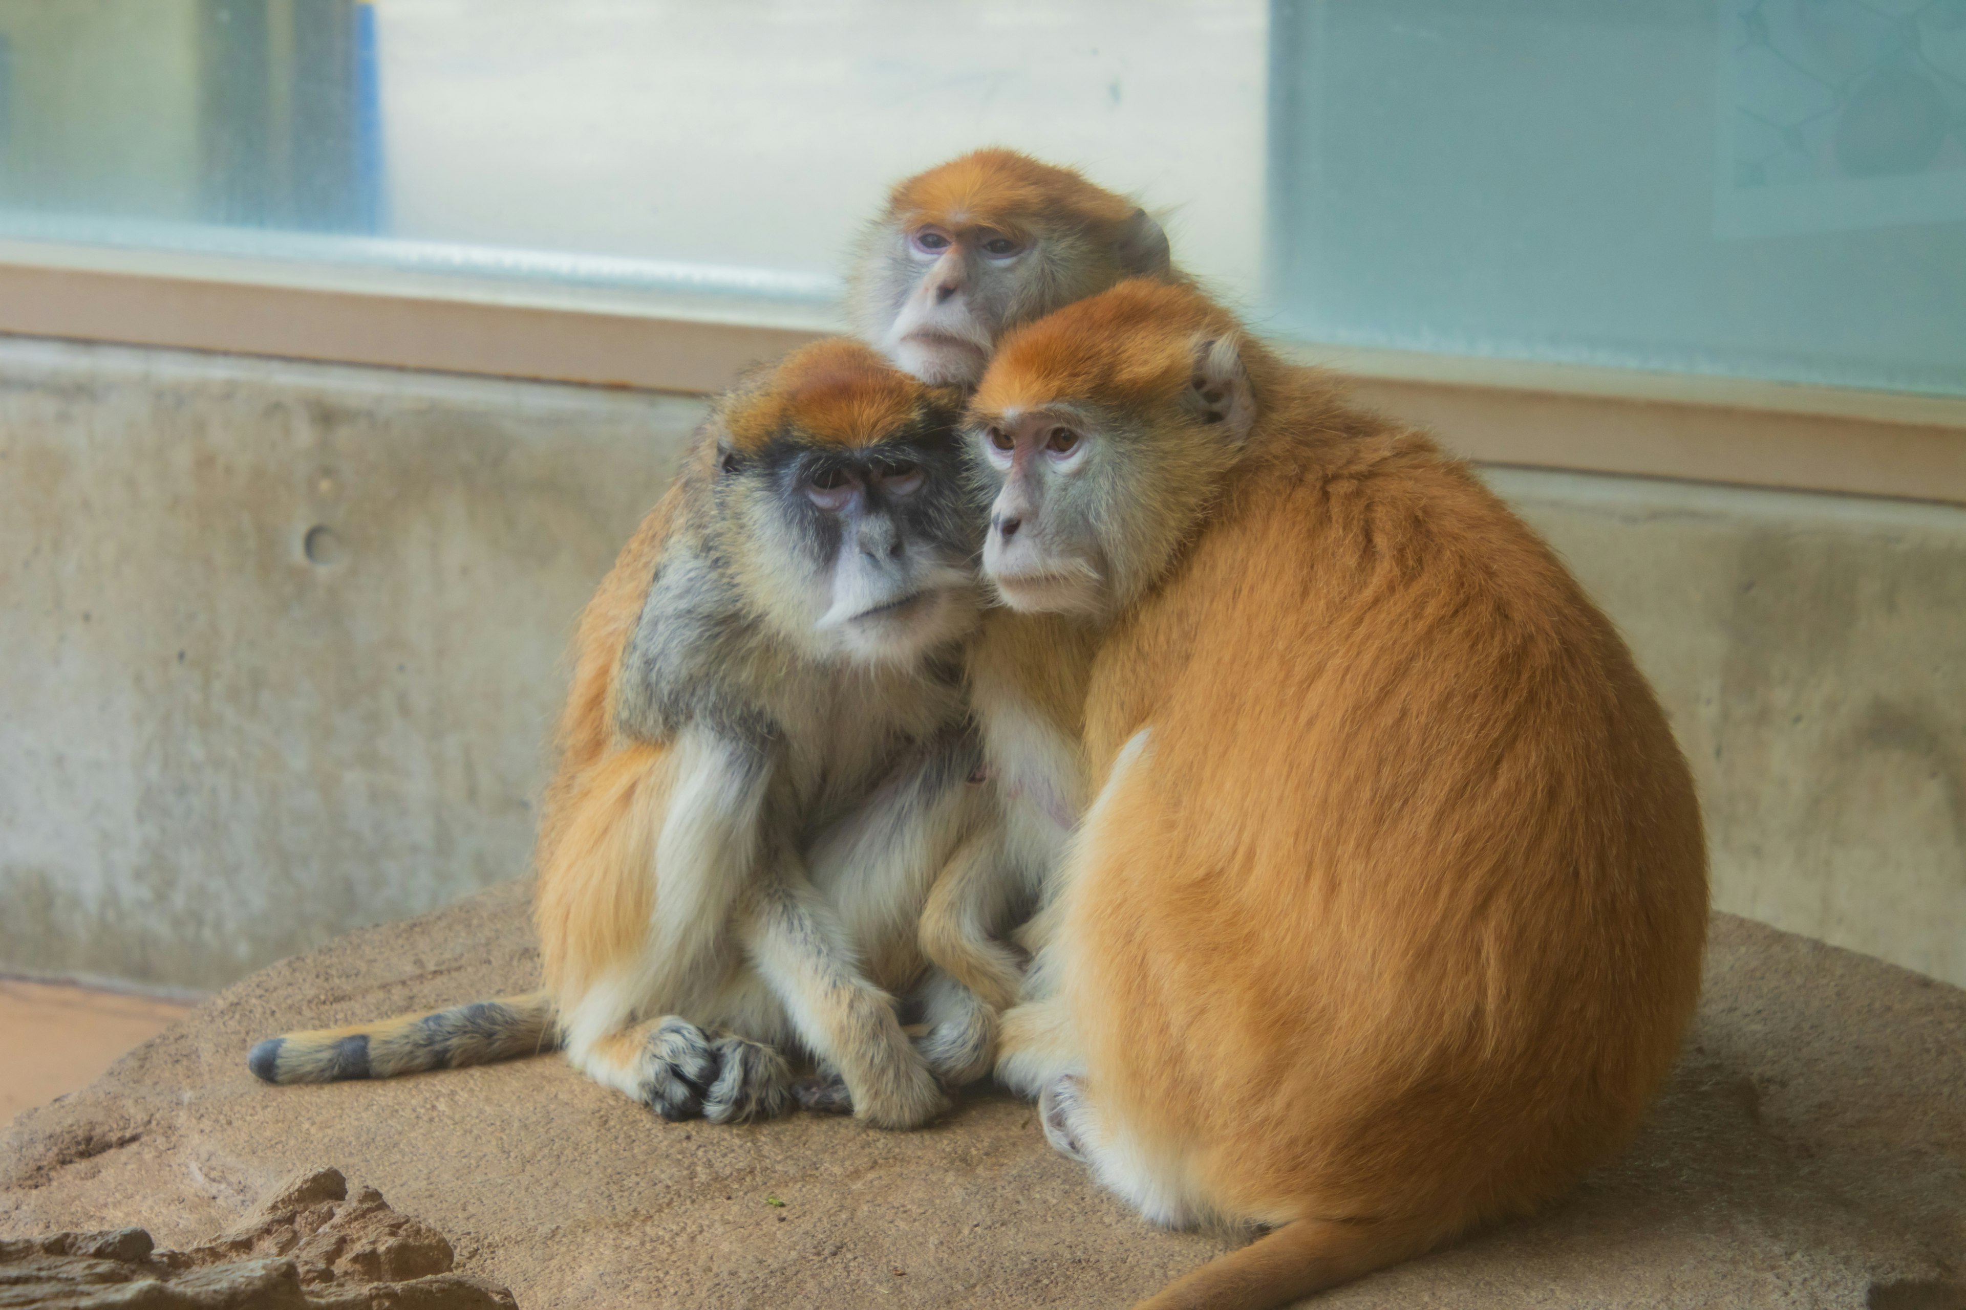
[[[0,1123],[102,1076],[191,1006],[0,978]]]

